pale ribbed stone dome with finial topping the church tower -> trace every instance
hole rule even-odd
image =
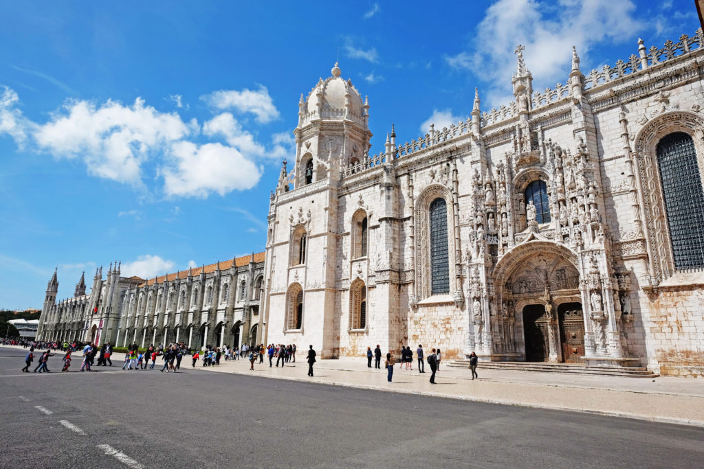
[[[365,109],[362,96],[351,80],[342,78],[336,62],[331,76],[320,79],[306,98],[306,114],[311,118],[325,120],[356,120],[363,122]]]

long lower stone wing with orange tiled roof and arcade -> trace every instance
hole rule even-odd
[[[38,338],[91,340],[124,347],[185,342],[197,348],[260,340],[259,304],[264,253],[179,271],[145,281],[120,276],[110,264],[96,269],[91,292],[84,277],[73,298],[56,302],[56,272],[49,281]]]

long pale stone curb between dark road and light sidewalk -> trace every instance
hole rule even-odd
[[[632,418],[634,420],[645,420],[646,422],[670,423],[673,425],[688,425],[691,427],[704,428],[704,420],[689,420],[686,418],[661,417],[661,416],[643,416],[643,415],[640,415],[637,413],[628,413],[628,412],[598,411],[598,410],[593,410],[593,409],[579,409],[577,407],[553,406],[550,404],[532,404],[529,402],[505,401],[505,400],[501,400],[501,399],[484,399],[482,397],[458,396],[456,394],[446,394],[443,392],[413,391],[413,390],[403,390],[403,389],[390,390],[387,387],[375,386],[375,385],[357,385],[354,383],[340,383],[337,381],[311,381],[306,378],[296,378],[294,376],[251,375],[249,373],[242,373],[240,371],[215,371],[215,370],[207,369],[206,367],[203,367],[203,366],[196,367],[196,369],[199,369],[199,368],[203,368],[201,371],[209,371],[210,373],[229,373],[229,374],[234,374],[234,375],[256,376],[257,378],[297,381],[299,383],[350,387],[353,389],[360,389],[360,390],[394,392],[397,394],[411,394],[411,395],[415,395],[415,396],[424,396],[424,397],[441,397],[443,399],[455,399],[456,401],[479,402],[482,404],[498,404],[498,405],[502,405],[502,406],[528,407],[531,409],[545,409],[545,410],[551,410],[551,411],[591,413],[593,415],[598,415],[598,416]]]

